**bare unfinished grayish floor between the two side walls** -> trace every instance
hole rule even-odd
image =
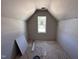
[[[16,59],[33,59],[39,55],[41,59],[71,59],[69,55],[55,41],[34,41],[35,48],[32,51],[32,43],[29,43],[28,52]]]

